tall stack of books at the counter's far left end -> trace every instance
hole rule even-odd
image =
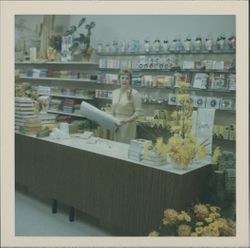
[[[15,98],[15,131],[36,134],[41,127],[40,120],[34,112],[31,98]]]

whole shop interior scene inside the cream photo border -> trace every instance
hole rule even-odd
[[[235,35],[233,15],[16,15],[16,235],[235,236]],[[25,230],[29,205],[63,231]]]

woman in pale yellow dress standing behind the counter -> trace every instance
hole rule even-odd
[[[120,89],[112,94],[112,114],[120,119],[121,124],[114,133],[114,140],[130,143],[136,138],[136,119],[141,111],[141,98],[137,90],[131,88],[132,74],[122,70],[118,75]]]

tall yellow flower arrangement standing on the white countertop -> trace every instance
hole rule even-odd
[[[179,106],[171,114],[172,120],[169,122],[173,136],[168,139],[167,144],[163,143],[162,138],[157,139],[155,148],[160,155],[167,154],[175,165],[186,169],[192,160],[206,155],[208,144],[206,141],[198,144],[197,138],[192,134],[192,101],[187,93],[186,83],[180,83],[179,86],[176,97]],[[146,148],[144,152],[147,153]]]

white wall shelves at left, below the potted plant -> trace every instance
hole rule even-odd
[[[48,87],[50,89],[57,88],[59,89],[59,92],[50,92],[50,93],[40,93],[39,95],[43,96],[50,96],[50,98],[53,99],[62,99],[62,109],[53,110],[48,109],[48,113],[53,113],[58,116],[64,115],[64,116],[71,116],[76,118],[82,118],[85,119],[80,114],[75,114],[74,110],[72,113],[70,112],[64,112],[63,110],[63,101],[67,99],[74,100],[74,104],[80,104],[81,100],[86,101],[92,101],[93,104],[95,104],[94,100],[94,94],[92,97],[88,96],[86,93],[86,96],[84,93],[81,94],[63,94],[60,90],[65,88],[71,88],[74,90],[80,90],[82,92],[87,91],[95,91],[97,80],[90,79],[91,75],[96,75],[98,71],[98,64],[94,62],[78,62],[78,61],[70,61],[70,62],[60,62],[60,61],[48,61],[48,62],[30,62],[30,61],[20,61],[15,63],[15,68],[17,70],[22,71],[19,76],[16,77],[16,83],[22,83],[22,82],[29,82],[32,86],[41,86],[41,87]],[[33,69],[46,69],[50,71],[71,71],[71,72],[78,72],[84,75],[80,78],[70,78],[70,77],[50,77],[50,76],[27,76],[28,70]],[[81,76],[82,76],[81,75]]]

